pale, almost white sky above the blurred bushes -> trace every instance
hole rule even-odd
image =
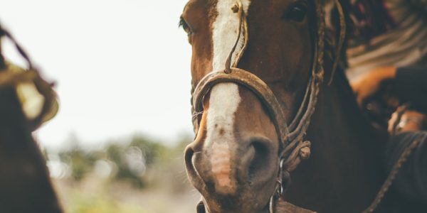
[[[44,146],[58,148],[70,133],[95,146],[191,133],[191,46],[178,28],[187,0],[0,1],[2,25],[57,82],[60,111],[36,132]]]

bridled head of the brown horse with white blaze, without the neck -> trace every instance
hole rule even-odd
[[[196,137],[185,162],[209,212],[268,212],[310,155],[303,139],[323,77],[322,18],[320,1],[186,4]]]

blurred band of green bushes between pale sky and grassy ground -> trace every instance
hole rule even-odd
[[[68,165],[67,178],[73,181],[79,182],[90,173],[102,173],[109,180],[145,188],[159,182],[163,184],[165,178],[176,178],[165,175],[182,176],[184,148],[190,141],[189,136],[181,136],[174,146],[166,146],[161,141],[138,134],[130,141],[111,141],[101,148],[87,149],[81,146],[76,136],[71,136],[70,146],[60,151],[58,157],[61,163]]]

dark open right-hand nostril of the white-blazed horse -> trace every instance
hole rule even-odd
[[[256,175],[262,175],[268,170],[268,165],[270,163],[269,143],[270,141],[264,138],[252,140],[251,146],[255,151],[255,155],[253,156],[248,170],[249,180],[251,180],[251,182]]]

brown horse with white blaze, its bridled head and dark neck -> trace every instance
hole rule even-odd
[[[374,199],[386,138],[359,111],[342,69],[322,81],[334,70],[323,11],[315,0],[186,4],[196,138],[185,160],[199,212],[275,212],[278,197],[362,212]]]

